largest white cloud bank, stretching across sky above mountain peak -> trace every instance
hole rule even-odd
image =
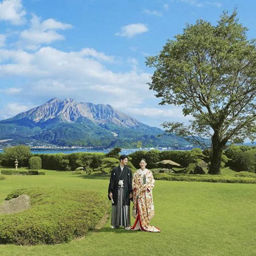
[[[154,98],[147,85],[150,74],[134,68],[136,59],[128,59],[130,71],[115,73],[95,56],[109,59],[105,53],[90,48],[64,52],[42,47],[32,53],[0,49],[0,77],[24,78],[26,82],[19,83],[23,99],[73,97],[83,102],[109,103],[121,110]]]

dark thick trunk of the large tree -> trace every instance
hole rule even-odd
[[[221,155],[224,146],[221,143],[220,133],[215,131],[212,136],[212,155],[209,174],[219,174],[221,167]]]

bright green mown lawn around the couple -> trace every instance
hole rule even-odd
[[[14,189],[33,186],[96,189],[107,196],[108,176],[45,172],[1,180],[0,201]],[[256,256],[256,185],[157,180],[153,195],[156,215],[151,224],[161,233],[112,230],[108,220],[99,231],[67,244],[2,244],[0,255]]]

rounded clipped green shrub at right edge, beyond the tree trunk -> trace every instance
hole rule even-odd
[[[239,170],[255,172],[256,169],[256,148],[244,151],[237,161]]]

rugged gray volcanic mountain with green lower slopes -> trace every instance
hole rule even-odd
[[[159,128],[145,125],[111,105],[53,98],[43,105],[0,121],[0,139],[55,145],[104,147],[187,145],[176,136],[157,137]]]

